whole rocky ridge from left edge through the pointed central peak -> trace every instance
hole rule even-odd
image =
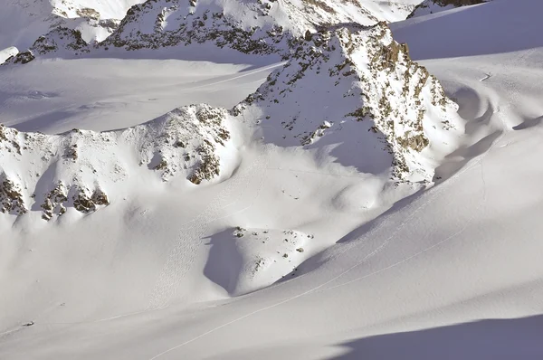
[[[363,173],[432,180],[435,160],[452,151],[444,140],[462,127],[457,108],[386,24],[334,26],[293,44],[291,61],[231,111],[186,107],[105,133],[47,136],[1,128],[0,211],[41,209],[49,220],[67,207],[90,213],[109,204],[119,184],[137,188],[130,185],[135,177],[213,180],[236,162],[233,123],[276,146],[329,149],[336,162]]]

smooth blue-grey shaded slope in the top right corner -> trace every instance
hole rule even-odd
[[[538,10],[536,3],[522,0],[519,6],[514,6],[509,0],[492,1],[409,19],[391,27],[397,41],[408,41],[415,60],[519,51],[532,53],[543,46],[543,39],[536,36],[540,30],[538,12],[527,10]],[[512,20],[498,26],[504,21],[504,14],[518,19],[519,27],[508,25]],[[491,16],[491,26],[480,21],[485,16]]]

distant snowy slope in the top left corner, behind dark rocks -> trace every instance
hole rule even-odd
[[[143,0],[5,0],[0,2],[0,50],[25,51],[41,35],[63,26],[79,30],[87,42],[102,41]]]

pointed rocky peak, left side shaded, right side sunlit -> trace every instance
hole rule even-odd
[[[254,119],[266,141],[282,147],[334,145],[337,161],[361,172],[429,181],[434,161],[461,135],[456,110],[380,23],[308,33],[291,61],[233,113]],[[443,146],[450,139],[452,147]]]

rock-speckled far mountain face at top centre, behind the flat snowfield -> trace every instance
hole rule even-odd
[[[386,10],[394,6],[400,14],[409,8],[397,3],[380,6],[372,11],[373,2],[358,1],[150,0],[130,9],[108,43],[138,49],[213,42],[242,52],[285,51],[283,40],[319,26],[376,24],[393,17]]]

